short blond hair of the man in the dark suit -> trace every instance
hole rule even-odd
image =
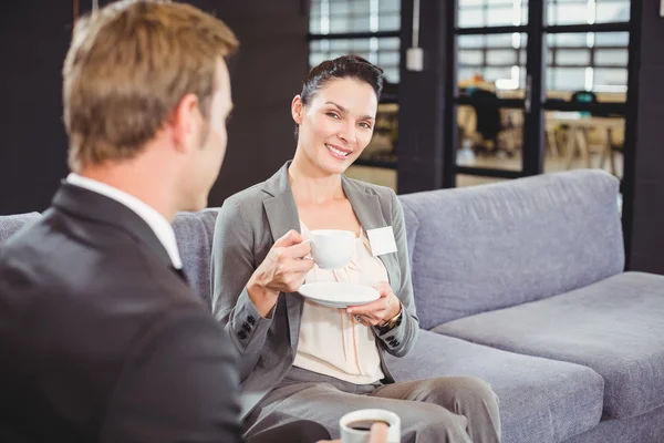
[[[207,117],[217,62],[238,41],[185,3],[123,0],[81,18],[64,61],[64,124],[72,171],[132,158],[188,93]]]

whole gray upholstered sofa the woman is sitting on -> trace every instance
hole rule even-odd
[[[623,272],[618,187],[575,171],[400,196],[423,330],[395,377],[487,380],[506,443],[664,442],[664,277]],[[174,223],[208,306],[216,215]],[[38,216],[0,217],[0,244]]]

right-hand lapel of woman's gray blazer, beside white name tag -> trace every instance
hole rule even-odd
[[[383,215],[383,208],[381,207],[377,195],[366,193],[366,189],[369,188],[361,188],[345,176],[341,177],[341,184],[343,186],[343,192],[351,202],[355,216],[357,216],[364,230],[390,226]],[[385,266],[390,285],[396,290],[396,288],[401,286],[401,281],[397,281],[398,261],[396,259],[396,254],[378,256],[378,259]]]

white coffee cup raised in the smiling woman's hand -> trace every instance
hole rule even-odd
[[[321,269],[340,269],[351,261],[355,248],[355,234],[350,230],[310,230],[311,257]]]

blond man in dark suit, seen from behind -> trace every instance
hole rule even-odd
[[[236,357],[170,227],[217,178],[237,47],[181,3],[120,1],[76,23],[72,173],[0,250],[0,441],[240,441]]]

